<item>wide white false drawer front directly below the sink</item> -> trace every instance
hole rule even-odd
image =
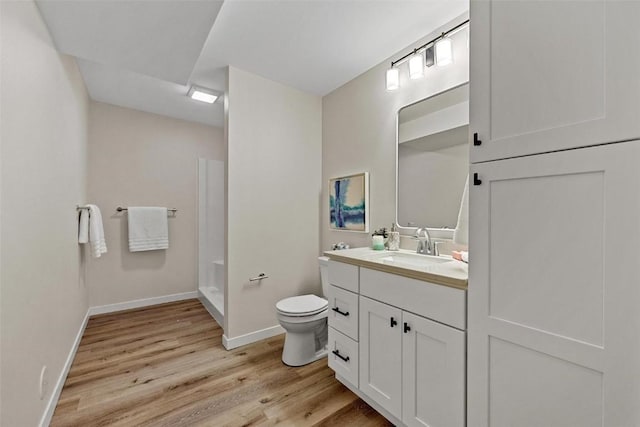
[[[467,291],[360,269],[360,294],[458,329],[467,327]]]

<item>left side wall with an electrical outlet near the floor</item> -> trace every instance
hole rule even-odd
[[[33,2],[0,2],[0,15],[0,424],[34,426],[87,313],[76,205],[86,202],[88,97]]]

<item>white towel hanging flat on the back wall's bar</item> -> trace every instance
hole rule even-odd
[[[129,207],[129,252],[169,247],[167,208]]]

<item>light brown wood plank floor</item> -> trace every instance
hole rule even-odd
[[[52,426],[389,426],[284,336],[235,350],[197,300],[89,320]]]

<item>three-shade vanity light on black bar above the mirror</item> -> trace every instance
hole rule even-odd
[[[418,46],[402,58],[391,61],[391,68],[387,70],[386,76],[387,90],[396,90],[400,87],[398,66],[404,62],[409,61],[409,77],[412,79],[418,79],[424,76],[425,65],[431,67],[434,63],[438,64],[438,66],[451,64],[453,62],[453,45],[450,36],[468,24],[469,20],[467,19],[449,31],[445,31],[435,39],[426,42],[422,46]]]

